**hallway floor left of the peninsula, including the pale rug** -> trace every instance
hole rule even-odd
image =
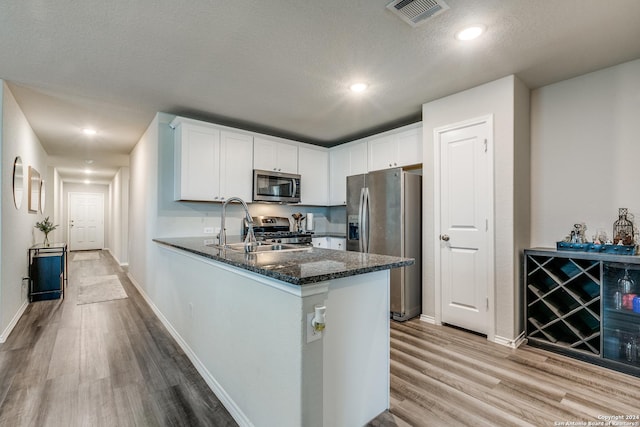
[[[0,345],[0,425],[236,425],[108,252],[68,266]]]

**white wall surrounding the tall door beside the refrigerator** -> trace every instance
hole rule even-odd
[[[529,91],[515,76],[508,76],[423,105],[425,171],[434,170],[433,131],[451,123],[493,114],[494,118],[494,228],[495,228],[495,335],[501,341],[514,340],[521,332],[518,287],[519,246],[527,246],[528,211],[528,96]],[[516,97],[518,99],[516,99]],[[516,113],[519,117],[516,119]],[[518,172],[516,172],[518,167]],[[423,314],[435,317],[434,176],[423,175]],[[516,196],[516,194],[518,196]],[[520,205],[516,207],[516,202]],[[439,319],[437,319],[439,320]]]

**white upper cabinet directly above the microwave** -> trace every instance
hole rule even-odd
[[[254,169],[298,173],[298,145],[256,137],[253,159]]]

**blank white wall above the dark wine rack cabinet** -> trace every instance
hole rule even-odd
[[[640,60],[534,90],[531,125],[532,246],[579,222],[611,237],[620,207],[640,220]]]

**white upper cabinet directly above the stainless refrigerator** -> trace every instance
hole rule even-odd
[[[377,135],[368,144],[370,171],[422,163],[422,123]]]

